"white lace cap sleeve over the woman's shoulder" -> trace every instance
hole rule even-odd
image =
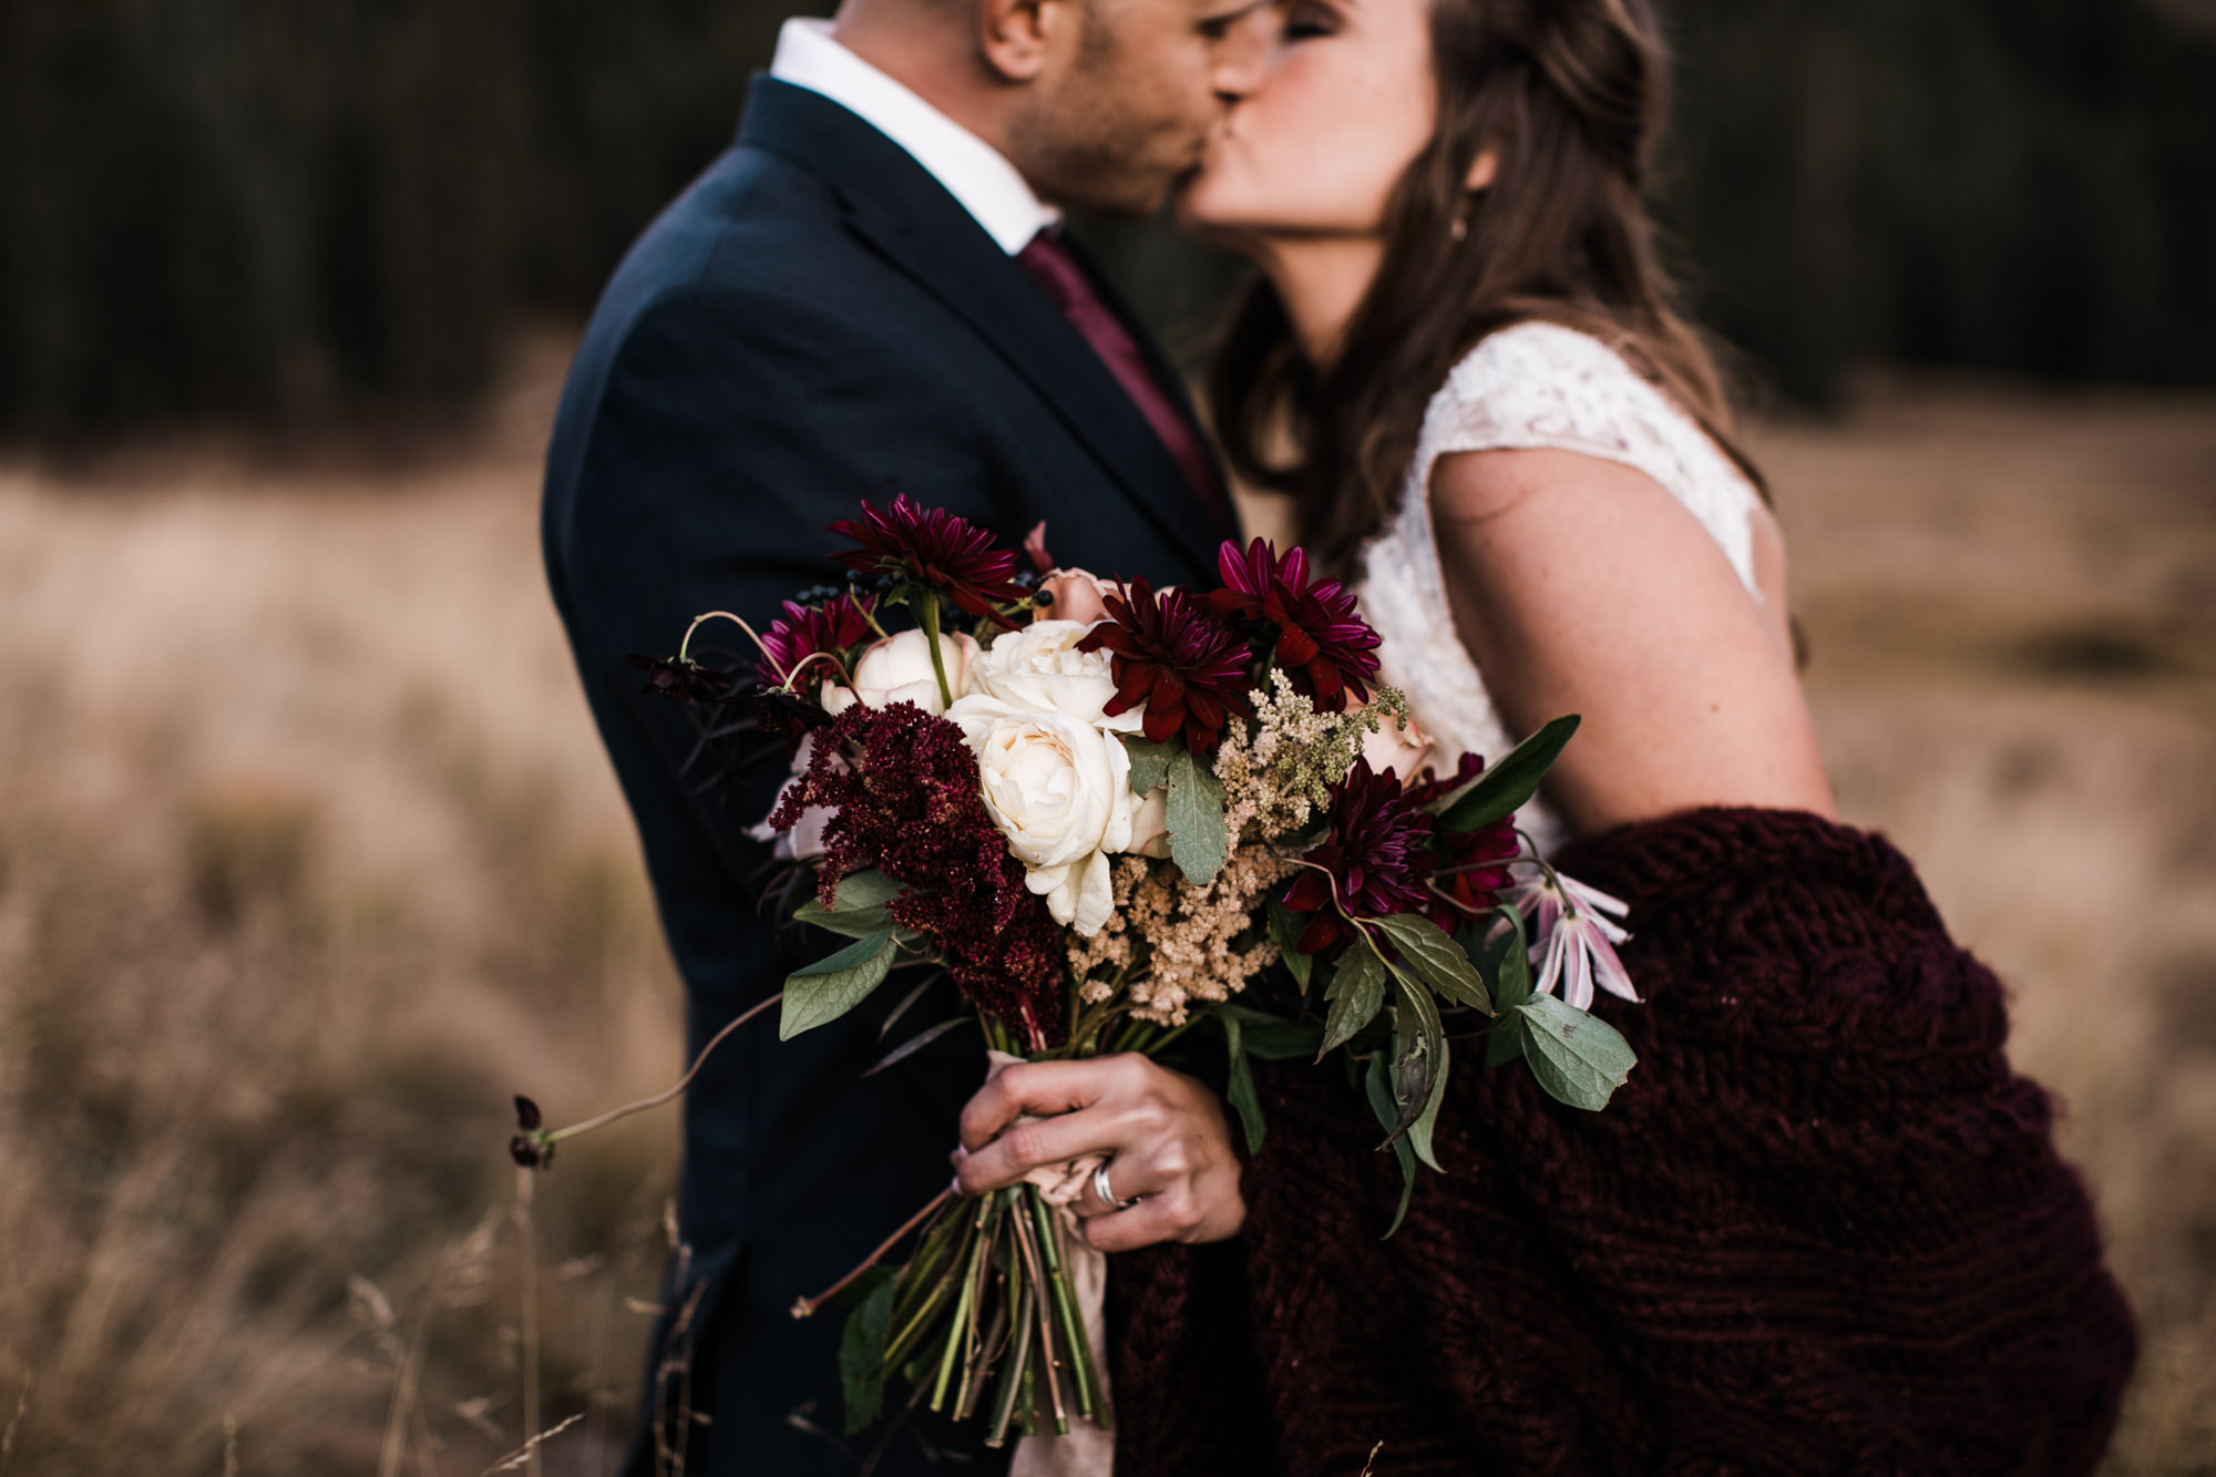
[[[1567,450],[1618,461],[1662,483],[1722,546],[1760,601],[1757,492],[1715,441],[1600,339],[1558,324],[1518,324],[1469,350],[1425,415],[1409,495],[1434,464],[1471,450]]]

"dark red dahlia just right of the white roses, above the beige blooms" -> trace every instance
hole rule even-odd
[[[1108,716],[1146,707],[1146,736],[1163,743],[1183,730],[1186,747],[1212,754],[1232,714],[1252,716],[1245,701],[1250,652],[1208,614],[1208,605],[1135,579],[1128,597],[1104,599],[1108,619],[1077,643],[1079,652],[1106,648],[1112,656],[1115,699]]]

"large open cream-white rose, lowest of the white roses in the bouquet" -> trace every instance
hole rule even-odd
[[[1055,923],[1086,938],[1115,911],[1108,856],[1130,845],[1130,758],[1092,723],[1053,707],[1030,710],[991,694],[957,701],[984,785],[984,805],[1024,863],[1024,885]]]

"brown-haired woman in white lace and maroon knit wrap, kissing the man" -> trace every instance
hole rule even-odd
[[[2127,1306],[1999,982],[1837,827],[1784,541],[1642,186],[1646,0],[1283,0],[1181,195],[1261,268],[1212,366],[1232,466],[1358,579],[1438,752],[1578,738],[1522,823],[1631,905],[1607,1113],[1456,1073],[1403,1231],[1327,1071],[1221,1107],[1128,1060],[1017,1069],[968,1189],[1115,1153],[1117,1464],[1272,1473],[2087,1473]],[[1132,1204],[1132,1198],[1143,1195]],[[1128,1209],[1126,1209],[1128,1206]],[[1214,1244],[1206,1244],[1214,1242]],[[1141,1249],[1143,1246],[1143,1249]],[[1383,1448],[1378,1450],[1378,1444]]]

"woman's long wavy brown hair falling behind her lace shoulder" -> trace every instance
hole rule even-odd
[[[1383,264],[1332,364],[1301,355],[1268,282],[1232,313],[1208,373],[1232,468],[1290,492],[1301,543],[1345,572],[1398,510],[1447,370],[1545,319],[1613,346],[1762,488],[1640,200],[1669,84],[1646,0],[1432,0],[1432,53],[1438,126],[1394,186]],[[1471,195],[1485,151],[1498,173]]]

